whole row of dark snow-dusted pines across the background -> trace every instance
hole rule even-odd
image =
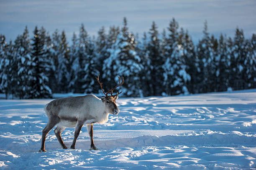
[[[70,44],[70,45],[69,45]],[[100,28],[97,37],[84,25],[68,43],[65,32],[26,27],[15,41],[0,35],[0,92],[6,98],[50,98],[53,93],[100,93],[123,76],[123,96],[142,97],[256,88],[256,35],[246,39],[203,36],[194,44],[188,30],[173,18],[161,33],[155,22],[143,37],[123,26]]]

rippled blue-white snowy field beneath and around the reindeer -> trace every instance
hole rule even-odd
[[[39,153],[48,118],[45,100],[0,100],[0,169],[254,169],[256,90],[174,97],[122,98],[120,114],[94,125],[95,146],[82,128],[76,150],[54,131]],[[61,134],[67,147],[73,128]]]

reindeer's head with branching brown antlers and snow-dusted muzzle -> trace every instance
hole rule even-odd
[[[119,76],[118,77],[119,78],[119,84],[116,87],[108,90],[107,93],[105,93],[103,88],[102,88],[102,82],[99,81],[99,77],[100,77],[100,74],[98,75],[98,77],[96,77],[96,79],[98,80],[98,83],[100,84],[100,88],[101,88],[102,92],[105,94],[105,96],[101,96],[101,100],[103,102],[105,110],[108,113],[111,113],[113,115],[117,115],[120,112],[120,110],[118,109],[117,105],[115,104],[115,101],[118,99],[118,94],[120,94],[123,91],[121,90],[121,92],[119,92],[119,93],[117,92],[116,95],[113,95],[113,90],[115,90],[117,87],[123,85],[124,80],[122,79],[122,82],[121,82],[121,78]],[[108,95],[108,94],[111,94],[111,96]]]

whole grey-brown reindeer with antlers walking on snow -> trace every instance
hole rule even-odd
[[[63,149],[67,149],[67,146],[61,138],[61,132],[66,127],[75,127],[74,140],[70,147],[71,149],[75,149],[77,137],[82,126],[85,124],[87,125],[87,131],[90,135],[90,150],[97,150],[93,142],[93,123],[103,124],[108,121],[109,114],[118,115],[120,110],[115,104],[115,101],[118,99],[118,95],[123,91],[121,90],[121,92],[117,92],[116,95],[113,95],[113,90],[124,83],[123,79],[121,82],[119,76],[119,84],[105,93],[102,88],[102,82],[99,81],[99,77],[100,75],[98,75],[96,79],[100,84],[102,92],[105,94],[105,96],[101,97],[101,100],[95,95],[90,94],[85,96],[59,98],[45,105],[44,110],[46,111],[49,120],[42,132],[41,149],[39,152],[46,152],[44,146],[46,135],[55,125],[56,129],[54,129],[54,133]],[[111,96],[108,94],[111,94]]]

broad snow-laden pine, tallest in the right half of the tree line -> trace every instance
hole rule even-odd
[[[178,32],[178,23],[173,18],[169,24],[169,37],[165,45],[166,62],[163,65],[164,69],[164,87],[167,95],[187,94],[187,81],[191,77],[186,72],[184,58],[184,30]],[[165,94],[165,95],[166,95]]]

